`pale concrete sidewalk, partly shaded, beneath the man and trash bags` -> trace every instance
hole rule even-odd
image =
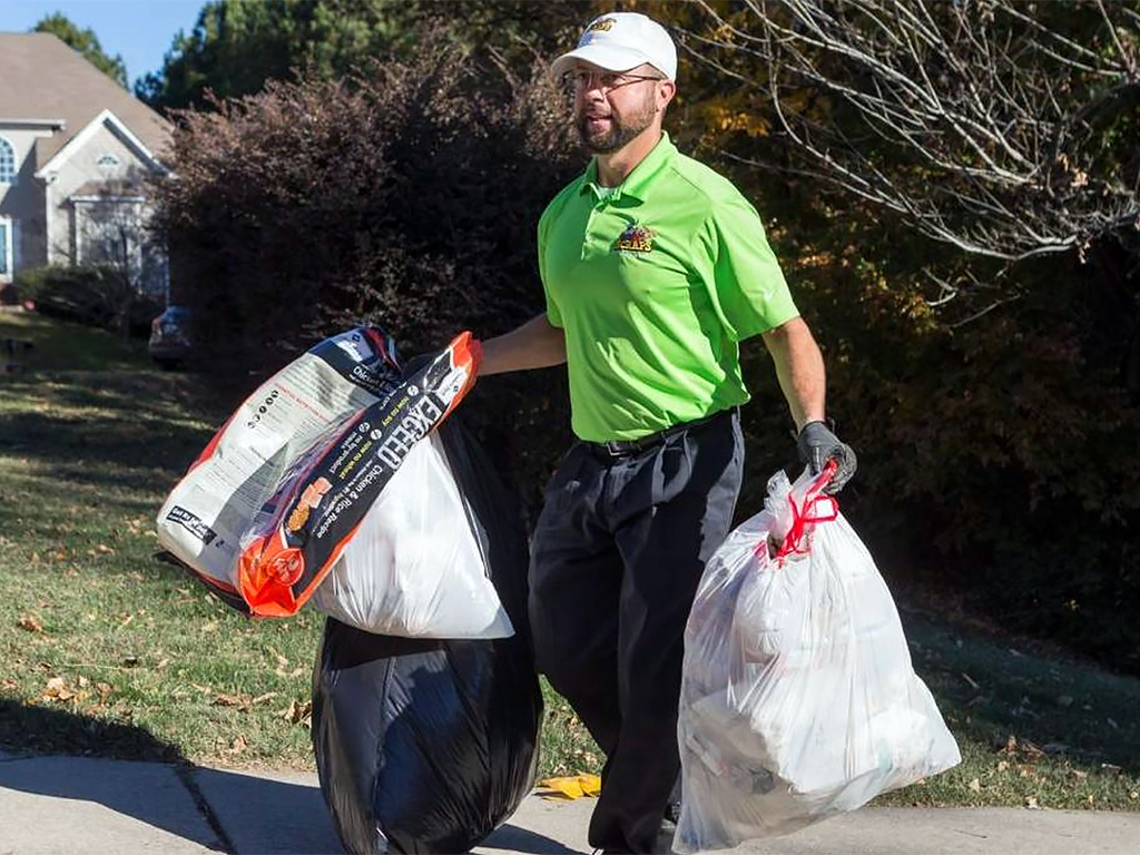
[[[528,798],[474,852],[589,853],[592,799]],[[0,855],[308,855],[341,847],[312,774],[0,755]],[[1134,855],[1140,814],[868,808],[744,855]]]

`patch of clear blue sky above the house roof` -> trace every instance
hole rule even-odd
[[[104,51],[120,54],[135,81],[162,67],[174,33],[189,33],[205,0],[0,0],[0,31],[31,30],[46,15],[62,11],[99,36]]]

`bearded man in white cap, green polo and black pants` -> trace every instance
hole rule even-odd
[[[595,19],[555,62],[594,157],[538,225],[546,312],[486,342],[481,369],[568,364],[579,441],[546,489],[530,617],[539,669],[606,756],[589,826],[604,852],[654,850],[679,771],[685,620],[743,467],[740,341],[763,336],[805,459],[840,464],[831,490],[855,470],[755,209],[661,130],[676,70],[638,14]]]

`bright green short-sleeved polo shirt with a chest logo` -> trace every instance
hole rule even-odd
[[[609,195],[597,163],[538,222],[573,432],[637,439],[743,404],[739,342],[798,312],[760,218],[668,135]]]

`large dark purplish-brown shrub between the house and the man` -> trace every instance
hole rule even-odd
[[[414,353],[543,310],[536,223],[581,169],[562,95],[429,42],[351,81],[270,83],[181,114],[178,180],[156,188],[157,219],[174,302],[195,310],[213,375],[235,393],[246,369],[357,320]],[[465,414],[531,483],[568,441],[564,398],[548,375],[496,378]],[[546,410],[559,429],[522,438]]]

